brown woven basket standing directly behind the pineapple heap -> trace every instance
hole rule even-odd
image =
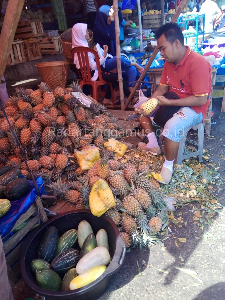
[[[49,88],[55,89],[57,86],[65,88],[70,71],[68,61],[39,62],[36,67],[42,80],[46,82]]]

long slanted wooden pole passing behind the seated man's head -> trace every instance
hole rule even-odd
[[[189,1],[189,0],[182,0],[181,1],[180,5],[177,7],[177,10],[176,10],[176,12],[173,15],[173,18],[170,21],[171,23],[175,23],[176,22],[177,18],[179,17],[180,13],[182,12],[184,6],[187,4],[187,1]],[[149,61],[147,62],[145,69],[141,73],[139,79],[136,81],[136,83],[135,83],[135,85],[133,87],[133,90],[131,91],[131,95],[128,97],[125,105],[121,108],[121,110],[125,110],[128,107],[128,105],[130,104],[130,101],[133,98],[134,93],[135,93],[137,87],[139,86],[140,82],[143,81],[143,79],[145,78],[145,75],[148,72],[149,67],[151,66],[152,62],[154,61],[157,53],[158,53],[158,48],[156,47],[155,50],[153,51],[151,57],[149,58]]]

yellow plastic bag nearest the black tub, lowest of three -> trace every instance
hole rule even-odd
[[[100,217],[109,208],[116,205],[113,193],[105,180],[95,182],[89,195],[89,206],[94,216]]]

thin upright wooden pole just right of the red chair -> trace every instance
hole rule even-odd
[[[121,60],[120,60],[120,29],[119,29],[118,1],[117,0],[113,0],[113,10],[114,10],[114,21],[115,21],[115,33],[116,33],[117,73],[118,73],[119,91],[120,91],[120,104],[122,107],[122,106],[124,106],[124,91],[123,91],[123,77],[122,77]]]

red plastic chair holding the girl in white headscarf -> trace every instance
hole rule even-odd
[[[88,61],[88,52],[93,53],[95,55],[95,61],[97,63],[98,77],[99,77],[99,79],[96,81],[91,81],[91,68]],[[102,79],[98,53],[92,48],[82,47],[82,46],[74,47],[71,50],[72,57],[74,57],[75,53],[77,53],[78,56],[78,61],[80,65],[79,73],[81,73],[82,76],[82,79],[80,80],[80,87],[82,88],[83,85],[85,84],[91,85],[92,87],[91,97],[99,101],[100,91],[98,91],[98,89],[101,87],[101,85],[107,85],[107,86],[110,85],[112,103],[113,106],[115,106],[115,94],[113,91],[113,86],[111,82]]]

